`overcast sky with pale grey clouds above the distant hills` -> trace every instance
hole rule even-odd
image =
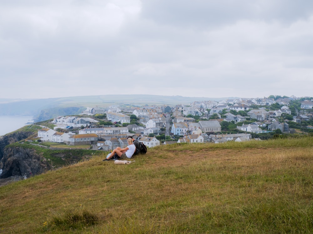
[[[313,1],[0,1],[0,98],[313,96]]]

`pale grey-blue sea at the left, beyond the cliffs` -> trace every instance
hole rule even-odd
[[[0,136],[32,123],[32,119],[33,116],[0,115]]]

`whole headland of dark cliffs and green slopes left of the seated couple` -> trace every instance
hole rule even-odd
[[[84,149],[53,150],[31,146],[27,142],[17,143],[33,134],[15,132],[0,137],[0,186],[77,163],[95,154]]]

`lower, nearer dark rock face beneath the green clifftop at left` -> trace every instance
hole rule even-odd
[[[0,168],[2,168],[0,178],[17,176],[28,178],[52,169],[47,160],[38,155],[36,150],[24,149],[22,147],[8,147],[4,149]]]

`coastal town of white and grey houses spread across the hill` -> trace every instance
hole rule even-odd
[[[129,135],[151,148],[160,144],[260,140],[259,134],[292,133],[293,124],[301,124],[310,132],[313,101],[300,100],[299,108],[292,106],[290,110],[294,100],[297,98],[239,98],[175,106],[88,107],[80,115],[54,118],[54,129],[43,127],[38,138],[112,150],[126,147]],[[235,129],[229,131],[229,124]]]

